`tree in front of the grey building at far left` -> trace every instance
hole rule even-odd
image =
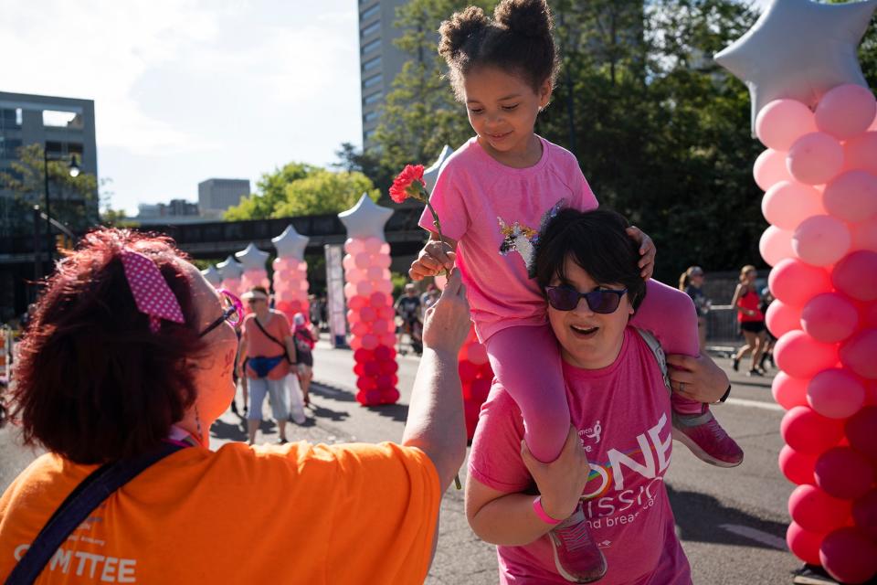
[[[43,146],[28,144],[17,151],[18,159],[10,165],[11,173],[0,173],[0,188],[8,189],[13,197],[9,213],[11,233],[28,233],[33,227],[31,209],[45,207],[45,172]],[[52,218],[73,231],[83,231],[97,222],[97,177],[80,173],[73,177],[66,161],[48,161],[48,189]]]

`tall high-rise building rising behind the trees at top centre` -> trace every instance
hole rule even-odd
[[[359,65],[363,106],[363,150],[372,145],[380,108],[393,80],[407,60],[393,41],[402,36],[394,27],[396,8],[407,0],[359,0]]]

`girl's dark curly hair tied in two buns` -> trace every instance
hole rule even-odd
[[[439,27],[439,54],[457,98],[462,101],[465,76],[481,66],[518,75],[536,92],[546,80],[554,87],[560,60],[553,27],[545,0],[502,0],[492,19],[478,6],[454,13]]]

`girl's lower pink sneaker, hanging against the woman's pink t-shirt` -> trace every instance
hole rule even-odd
[[[581,502],[572,516],[548,533],[548,539],[555,551],[555,568],[565,580],[593,583],[606,575],[606,558],[591,538]]]

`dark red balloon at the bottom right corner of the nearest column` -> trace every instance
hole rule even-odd
[[[822,539],[819,564],[836,580],[864,583],[877,573],[877,544],[856,528],[840,528]]]

